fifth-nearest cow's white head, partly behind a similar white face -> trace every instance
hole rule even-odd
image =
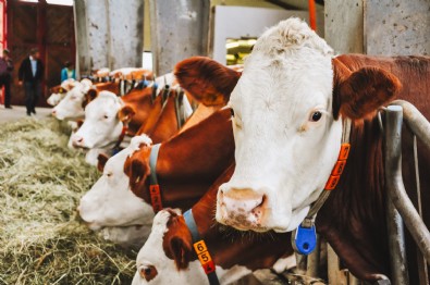
[[[89,79],[82,79],[76,83],[63,100],[52,110],[52,115],[58,120],[79,119],[84,116],[83,102],[93,83]]]

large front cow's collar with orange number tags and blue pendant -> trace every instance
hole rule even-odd
[[[351,135],[351,120],[345,119],[343,121],[343,131],[342,131],[342,144],[341,150],[339,151],[336,163],[334,164],[330,176],[325,183],[325,186],[318,197],[318,199],[311,205],[308,214],[304,219],[304,221],[298,225],[298,227],[293,231],[292,235],[292,244],[294,249],[299,255],[309,255],[314,251],[317,246],[317,231],[315,227],[315,219],[318,214],[318,211],[324,205],[327,199],[329,198],[331,191],[336,188],[339,181],[341,179],[341,175],[345,169],[346,160],[349,154],[351,145],[349,145],[349,135]]]

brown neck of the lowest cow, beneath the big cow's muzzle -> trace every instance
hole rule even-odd
[[[249,270],[271,268],[285,253],[288,256],[293,253],[291,244],[285,243],[291,239],[291,233],[239,232],[216,222],[218,188],[230,181],[233,172],[234,164],[231,164],[205,196],[193,206],[197,232],[206,241],[214,263],[225,270],[236,264]]]

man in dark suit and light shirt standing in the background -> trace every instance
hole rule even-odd
[[[19,70],[19,85],[24,84],[25,106],[27,115],[36,114],[37,100],[41,94],[41,80],[44,79],[44,63],[40,61],[38,49],[32,49],[29,57],[23,60]]]

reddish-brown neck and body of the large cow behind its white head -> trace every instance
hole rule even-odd
[[[430,64],[426,63],[428,58],[343,54],[336,59],[351,72],[365,66],[392,72],[402,78],[402,89],[395,99],[409,101],[427,119],[430,117],[428,101],[422,99],[423,94],[429,94]],[[406,189],[415,189],[415,174],[410,171],[414,169],[413,156],[410,156],[413,138],[407,127],[404,127],[402,133],[403,181]],[[377,280],[373,276],[380,274],[390,276],[382,133],[377,117],[353,123],[351,145],[353,148],[348,163],[337,186],[342,190],[334,191],[330,196],[317,216],[316,225],[317,231],[333,247],[345,267],[355,276],[367,281]],[[420,164],[429,165],[430,154],[427,150],[420,149],[419,158]],[[430,179],[425,178],[428,177],[426,176],[427,169],[420,172],[421,189],[430,187]],[[411,193],[408,191],[408,194]],[[408,260],[413,258],[408,257]],[[414,276],[409,275],[409,277]]]

